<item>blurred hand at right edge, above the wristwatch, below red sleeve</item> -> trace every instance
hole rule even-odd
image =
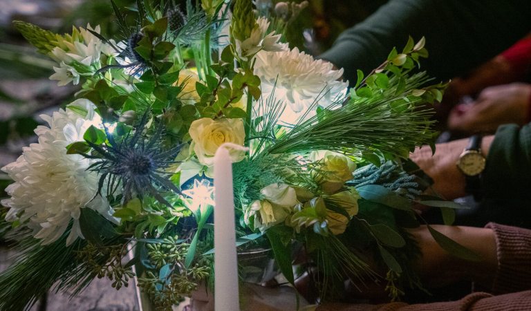
[[[525,124],[530,95],[531,84],[513,83],[485,88],[476,101],[460,104],[451,110],[448,128],[462,133],[492,133],[501,124]]]

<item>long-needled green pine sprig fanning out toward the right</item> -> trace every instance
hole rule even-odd
[[[419,107],[425,100],[413,94],[428,80],[425,73],[389,79],[389,88],[381,94],[358,97],[338,109],[326,109],[297,124],[267,151],[330,150],[360,157],[378,152],[384,158],[407,158],[414,147],[429,144],[433,138],[429,130],[433,111]],[[404,91],[395,94],[400,81],[405,84]]]

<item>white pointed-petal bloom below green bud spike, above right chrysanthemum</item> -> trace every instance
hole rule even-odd
[[[286,45],[280,44],[279,39],[281,35],[275,35],[274,31],[265,35],[268,31],[269,21],[264,17],[257,19],[257,26],[251,30],[251,35],[243,41],[236,39],[236,49],[243,57],[248,57],[258,53],[260,50],[269,52],[281,51]]]

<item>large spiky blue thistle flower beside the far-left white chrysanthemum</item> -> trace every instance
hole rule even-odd
[[[134,196],[142,198],[147,194],[159,202],[171,207],[169,202],[160,194],[159,189],[174,191],[181,194],[178,187],[168,179],[171,173],[165,171],[174,164],[174,158],[180,151],[182,144],[162,151],[161,136],[163,126],[158,124],[155,133],[145,138],[142,131],[147,123],[145,113],[136,127],[133,135],[127,134],[122,140],[116,141],[106,129],[109,141],[104,145],[88,144],[97,152],[96,155],[84,155],[99,161],[89,167],[91,171],[100,174],[97,193],[101,194],[106,183],[107,195],[114,194],[118,187],[122,187],[124,202]]]

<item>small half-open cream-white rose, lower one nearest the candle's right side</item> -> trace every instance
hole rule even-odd
[[[264,232],[269,227],[283,222],[288,214],[285,207],[271,204],[268,200],[255,200],[245,209],[244,220],[247,225],[252,223],[254,229]]]

